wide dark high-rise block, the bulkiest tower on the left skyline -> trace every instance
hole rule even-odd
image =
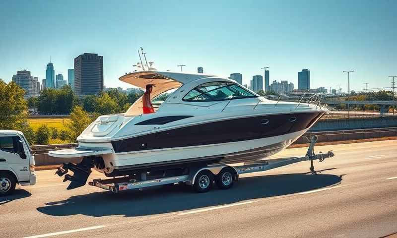
[[[74,59],[74,90],[77,95],[103,90],[103,56],[84,53]]]

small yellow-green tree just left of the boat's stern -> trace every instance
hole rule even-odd
[[[108,96],[109,97],[109,96]],[[77,136],[91,123],[88,113],[82,107],[74,107],[70,114],[70,122],[66,123],[69,142],[76,142]]]

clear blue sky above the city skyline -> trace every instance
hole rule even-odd
[[[82,2],[82,3],[81,3]],[[390,87],[397,75],[396,0],[0,2],[0,78],[27,69],[45,78],[73,68],[82,53],[104,57],[107,87],[129,87],[118,78],[147,52],[159,70],[253,75],[270,66],[270,81],[297,87],[297,72],[311,71],[311,87],[347,90]]]

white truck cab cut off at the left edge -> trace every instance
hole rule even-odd
[[[15,185],[34,185],[34,156],[25,136],[17,130],[0,130],[0,196]]]

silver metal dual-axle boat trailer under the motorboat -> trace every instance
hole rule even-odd
[[[146,187],[166,185],[166,184],[176,184],[185,183],[192,185],[197,192],[206,192],[210,190],[212,186],[212,181],[221,189],[230,188],[234,181],[239,179],[239,175],[248,174],[254,172],[263,172],[266,170],[275,169],[278,167],[302,162],[310,161],[310,172],[316,174],[314,169],[313,161],[319,160],[319,162],[324,161],[326,158],[334,156],[332,151],[327,153],[319,152],[316,154],[314,152],[314,145],[317,142],[317,136],[311,138],[311,142],[306,155],[291,158],[273,159],[263,163],[255,163],[241,166],[230,166],[230,165],[209,165],[205,167],[192,167],[189,168],[189,174],[166,177],[166,178],[156,178],[156,179],[146,179],[147,174],[142,173],[140,179],[131,179],[126,176],[123,178],[113,178],[113,179],[94,179],[88,182],[91,186],[100,187],[109,190],[114,193],[118,193],[124,190],[139,189],[142,190]]]

